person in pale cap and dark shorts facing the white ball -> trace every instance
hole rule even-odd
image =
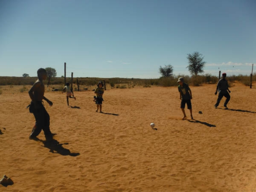
[[[187,107],[190,110],[191,119],[193,120],[194,118],[192,116],[192,104],[191,104],[192,92],[191,92],[188,84],[184,83],[184,79],[182,77],[180,77],[178,79],[178,84],[180,84],[178,86],[178,90],[180,92],[180,100],[181,100],[180,108],[184,115],[182,120],[185,120],[187,118],[186,113],[185,113],[185,104],[187,104]]]

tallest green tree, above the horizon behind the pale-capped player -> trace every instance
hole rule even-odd
[[[188,54],[188,68],[189,72],[192,75],[198,76],[199,73],[204,72],[204,65],[206,64],[204,60],[204,57],[199,52],[194,52],[192,54]]]

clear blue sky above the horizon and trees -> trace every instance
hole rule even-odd
[[[68,77],[188,75],[195,51],[204,74],[249,75],[256,0],[0,0],[0,76],[60,77],[64,62]]]

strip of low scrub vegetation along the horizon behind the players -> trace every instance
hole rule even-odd
[[[188,76],[179,74],[178,76],[161,77],[158,79],[139,79],[139,78],[74,78],[73,88],[77,89],[77,80],[79,88],[81,90],[86,90],[86,87],[95,87],[99,81],[105,81],[106,85],[110,88],[134,88],[135,86],[151,87],[151,86],[178,86],[178,77],[183,77],[184,82],[192,86],[200,86],[202,84],[216,84],[218,82],[217,76],[212,76],[211,74],[198,75],[198,76]],[[3,77],[0,76],[0,86],[4,85],[23,85],[20,92],[27,91],[26,85],[33,85],[37,80],[37,77]],[[232,82],[241,82],[246,86],[250,86],[250,76],[238,75],[238,76],[228,76],[227,80],[232,84]],[[256,81],[256,73],[253,74],[252,80]],[[66,78],[66,82],[71,82],[71,78]],[[62,90],[64,87],[64,78],[55,77],[52,78],[50,82],[53,89]]]

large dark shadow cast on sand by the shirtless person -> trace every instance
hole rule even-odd
[[[43,147],[50,149],[49,152],[51,153],[58,153],[61,155],[70,155],[70,156],[78,156],[80,155],[80,153],[71,153],[69,149],[66,149],[63,147],[63,145],[68,145],[68,143],[62,143],[60,144],[60,142],[58,142],[56,139],[52,139],[52,140],[41,140],[38,138],[34,138],[34,140],[36,141],[40,141],[44,144]]]

